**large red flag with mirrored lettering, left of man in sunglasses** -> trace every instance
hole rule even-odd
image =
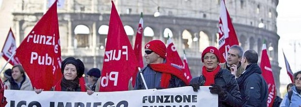
[[[112,0],[100,92],[127,91],[137,65],[134,50]]]

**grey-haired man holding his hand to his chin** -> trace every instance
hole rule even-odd
[[[235,78],[240,76],[244,71],[244,68],[241,67],[240,63],[243,53],[244,50],[241,46],[231,46],[227,54],[227,61],[225,63],[221,63],[220,66],[231,71],[231,74],[233,74]]]

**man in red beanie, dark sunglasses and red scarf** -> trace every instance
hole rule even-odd
[[[161,40],[152,40],[144,48],[144,58],[148,65],[142,69],[142,72],[146,83],[143,83],[138,74],[134,90],[146,89],[144,84],[147,85],[148,89],[167,89],[189,84],[184,72],[173,67],[170,63],[166,63],[167,48]]]

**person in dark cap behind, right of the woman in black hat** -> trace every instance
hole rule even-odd
[[[96,82],[100,78],[100,76],[101,73],[100,73],[100,69],[98,68],[92,68],[88,71],[87,73],[88,83],[86,85],[87,90],[91,90],[95,92]]]

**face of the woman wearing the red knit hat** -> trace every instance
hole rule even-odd
[[[207,71],[213,71],[217,68],[218,61],[217,56],[215,54],[208,52],[204,55],[203,59]]]

